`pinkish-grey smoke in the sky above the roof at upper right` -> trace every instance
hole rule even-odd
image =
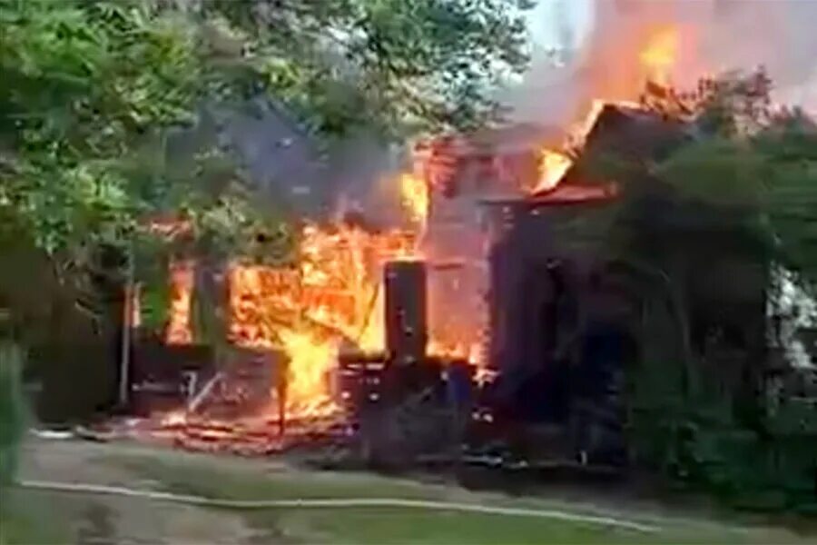
[[[557,5],[549,0],[549,5]],[[570,5],[563,2],[563,5]],[[594,97],[635,98],[639,37],[673,25],[680,40],[672,78],[684,87],[707,74],[752,70],[763,64],[779,102],[817,112],[817,2],[810,0],[596,0],[589,25],[576,28],[579,44],[566,65],[555,67],[541,48],[522,84],[501,97],[513,119],[565,126]],[[575,8],[569,8],[575,9]],[[564,17],[558,9],[536,16]],[[537,21],[539,28],[542,21]],[[536,25],[534,25],[536,28]],[[584,31],[584,33],[582,32]],[[584,34],[582,36],[582,34]],[[551,40],[552,41],[552,40]]]

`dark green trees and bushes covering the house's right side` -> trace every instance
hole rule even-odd
[[[639,277],[641,289],[631,290],[641,309],[642,353],[628,373],[636,454],[732,505],[805,512],[815,508],[813,405],[792,398],[771,410],[721,377],[719,366],[731,363],[691,350],[684,334],[688,302],[703,285],[696,279],[715,282],[726,260],[776,263],[806,284],[817,280],[817,126],[799,112],[773,114],[768,83],[762,73],[710,83],[690,120],[695,137],[656,163],[584,161],[629,182],[615,205],[609,257],[666,281]],[[760,373],[758,362],[737,364]]]

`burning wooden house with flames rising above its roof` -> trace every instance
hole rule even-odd
[[[231,263],[231,355],[174,372],[167,381],[195,379],[171,388],[179,408],[163,422],[184,441],[217,429],[209,437],[252,436],[261,451],[331,431],[381,458],[499,441],[528,457],[621,462],[626,365],[705,353],[725,390],[751,390],[765,267],[731,228],[734,211],[684,201],[650,172],[701,127],[694,100],[661,84],[674,28],[646,38],[638,77],[611,96],[632,98],[648,79],[660,104],[596,100],[566,144],[534,124],[418,144],[411,168],[389,178],[399,222],[374,227],[366,210],[310,219],[292,263]],[[607,155],[626,175],[595,172]],[[638,260],[621,252],[622,225],[638,233],[625,248]],[[195,341],[194,277],[181,262],[172,272],[173,350]],[[675,352],[656,351],[656,338]],[[162,360],[145,354],[133,377]]]

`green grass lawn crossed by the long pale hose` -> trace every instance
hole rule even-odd
[[[564,504],[533,498],[474,493],[368,473],[264,471],[260,466],[223,463],[199,456],[153,454],[106,458],[134,477],[162,490],[231,500],[294,498],[402,498],[450,500],[489,506],[570,510]],[[263,508],[236,510],[261,536],[300,543],[765,543],[780,536],[739,531],[716,524],[666,521],[661,530],[643,532],[584,521],[527,516],[392,507]],[[635,514],[627,520],[639,521]],[[654,522],[647,522],[655,524]]]

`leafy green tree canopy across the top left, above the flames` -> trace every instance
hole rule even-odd
[[[526,63],[525,4],[0,0],[0,240],[91,299],[89,277],[112,273],[100,248],[133,256],[154,310],[156,215],[190,226],[174,252],[286,259],[281,207],[261,210],[213,138],[170,156],[169,129],[258,94],[325,137],[486,123],[497,74]]]

